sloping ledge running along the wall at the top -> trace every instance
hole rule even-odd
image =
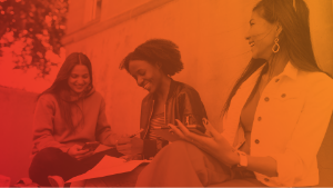
[[[124,13],[121,13],[119,16],[112,17],[108,20],[101,21],[101,22],[97,22],[94,24],[90,24],[87,27],[83,27],[74,32],[71,32],[69,34],[65,34],[62,39],[62,44],[63,46],[68,46],[70,43],[80,41],[82,39],[85,39],[90,36],[93,36],[98,32],[101,32],[105,29],[115,27],[117,24],[120,24],[124,21],[128,21],[132,18],[135,18],[138,16],[141,16],[145,12],[149,12],[151,10],[154,10],[161,6],[164,6],[168,2],[171,2],[174,0],[152,0],[150,2],[143,3],[132,10],[129,10]]]

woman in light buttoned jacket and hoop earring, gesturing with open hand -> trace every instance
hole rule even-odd
[[[303,0],[261,0],[246,39],[253,59],[223,110],[223,132],[209,137],[181,121],[185,141],[163,148],[138,188],[268,188],[319,184],[316,154],[333,110],[333,80],[313,55]]]

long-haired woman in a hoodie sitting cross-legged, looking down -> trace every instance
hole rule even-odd
[[[104,99],[94,91],[90,60],[83,53],[71,53],[52,86],[38,97],[30,178],[49,186],[49,177],[53,187],[61,187],[63,181],[91,169],[104,155],[122,156],[115,148],[93,154],[82,149],[85,142],[114,146],[117,139],[107,121]]]

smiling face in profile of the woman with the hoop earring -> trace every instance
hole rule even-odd
[[[279,23],[270,23],[261,17],[259,11],[253,11],[250,20],[250,30],[246,40],[251,46],[252,58],[269,59],[271,57],[274,39],[281,32]]]

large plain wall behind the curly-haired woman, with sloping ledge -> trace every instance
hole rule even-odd
[[[110,1],[105,2],[108,8]],[[157,2],[162,3],[149,9]],[[142,0],[130,12],[119,11],[122,14],[113,22],[112,18],[109,22],[103,18],[108,17],[103,14],[108,10],[102,7],[102,18],[95,27],[83,28],[64,39],[67,53],[82,51],[89,56],[93,63],[94,85],[105,97],[113,129],[135,131],[139,129],[141,100],[147,92],[125,70],[119,70],[119,63],[148,39],[170,39],[179,44],[184,62],[184,70],[174,79],[200,92],[209,118],[216,123],[231,86],[251,57],[244,36],[253,2]],[[140,11],[144,13],[139,14]],[[125,19],[127,13],[132,18]],[[112,23],[112,27],[105,27]],[[99,32],[93,33],[93,30]]]

